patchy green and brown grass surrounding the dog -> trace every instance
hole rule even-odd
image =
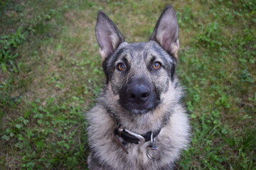
[[[0,169],[86,169],[83,113],[104,82],[105,11],[146,41],[169,1],[0,2]],[[255,169],[255,1],[174,1],[191,147],[176,169]]]

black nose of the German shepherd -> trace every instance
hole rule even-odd
[[[144,103],[146,99],[149,98],[150,89],[143,84],[136,84],[134,86],[129,86],[126,92],[130,102]]]

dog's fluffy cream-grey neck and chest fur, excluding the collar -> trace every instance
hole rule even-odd
[[[169,96],[166,98],[163,105],[159,106],[159,112],[168,111],[171,107],[171,115],[161,129],[160,134],[156,137],[156,146],[161,150],[161,157],[157,161],[153,161],[146,157],[146,147],[150,145],[150,142],[145,142],[144,145],[127,144],[129,154],[126,154],[121,147],[114,141],[112,131],[117,128],[117,122],[112,118],[112,115],[107,111],[105,107],[106,103],[110,103],[113,100],[113,94],[110,91],[102,93],[103,96],[99,98],[99,105],[92,108],[87,113],[87,120],[90,123],[88,130],[88,136],[92,153],[88,159],[90,169],[127,169],[127,170],[142,170],[142,169],[171,169],[174,161],[178,159],[178,155],[181,149],[186,148],[188,143],[188,118],[181,104],[175,101],[177,96],[181,95],[181,89],[176,87],[176,91],[171,93],[171,89],[165,94]],[[109,99],[105,98],[105,95],[109,96]],[[104,101],[101,100],[105,99]],[[160,113],[152,113],[147,119],[157,120]],[[161,115],[161,114],[160,114]],[[127,118],[121,118],[127,120]],[[145,122],[144,120],[137,119],[137,123]],[[127,121],[128,123],[129,121]],[[131,123],[131,122],[129,122]],[[138,133],[143,134],[149,129],[159,127],[161,122],[151,123],[151,127],[139,129]],[[129,128],[137,127],[131,123]],[[132,130],[135,130],[132,129]],[[137,132],[137,131],[134,131]],[[95,164],[93,164],[93,162]],[[99,165],[100,164],[100,165]]]

